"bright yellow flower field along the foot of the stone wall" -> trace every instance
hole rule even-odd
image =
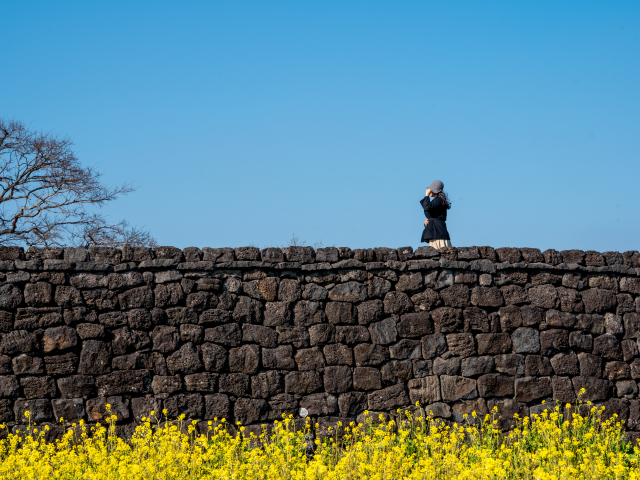
[[[322,440],[307,422],[276,422],[261,437],[227,433],[224,421],[196,434],[195,422],[143,419],[130,441],[107,425],[77,425],[62,440],[44,432],[0,442],[2,479],[637,479],[640,449],[624,441],[615,416],[585,404],[518,419],[502,434],[497,412],[446,426],[423,410],[382,422],[338,425]],[[582,411],[584,416],[579,415]],[[565,414],[563,415],[564,412]],[[400,413],[400,412],[399,412]],[[494,418],[492,418],[494,417]],[[566,418],[567,417],[567,418]],[[400,418],[400,416],[399,416]],[[185,428],[186,427],[186,428]],[[46,427],[45,427],[46,428]],[[240,427],[242,431],[242,427]]]

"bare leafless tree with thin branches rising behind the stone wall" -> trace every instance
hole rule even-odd
[[[107,187],[80,165],[68,138],[0,118],[0,245],[152,246],[126,221],[109,225],[96,207],[132,192]]]

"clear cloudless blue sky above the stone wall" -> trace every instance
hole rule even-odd
[[[640,2],[0,0],[0,115],[160,244],[640,248]]]

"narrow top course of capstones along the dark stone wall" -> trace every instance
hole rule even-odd
[[[640,253],[537,248],[429,246],[401,248],[287,247],[22,247],[0,246],[0,271],[126,271],[131,269],[218,270],[271,268],[277,270],[421,270],[449,268],[495,273],[509,268],[640,275]]]

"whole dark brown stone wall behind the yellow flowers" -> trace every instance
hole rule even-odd
[[[604,404],[640,430],[640,254],[0,247],[0,422],[150,410],[321,428]],[[206,424],[206,422],[203,422]],[[52,427],[51,435],[61,432]]]

